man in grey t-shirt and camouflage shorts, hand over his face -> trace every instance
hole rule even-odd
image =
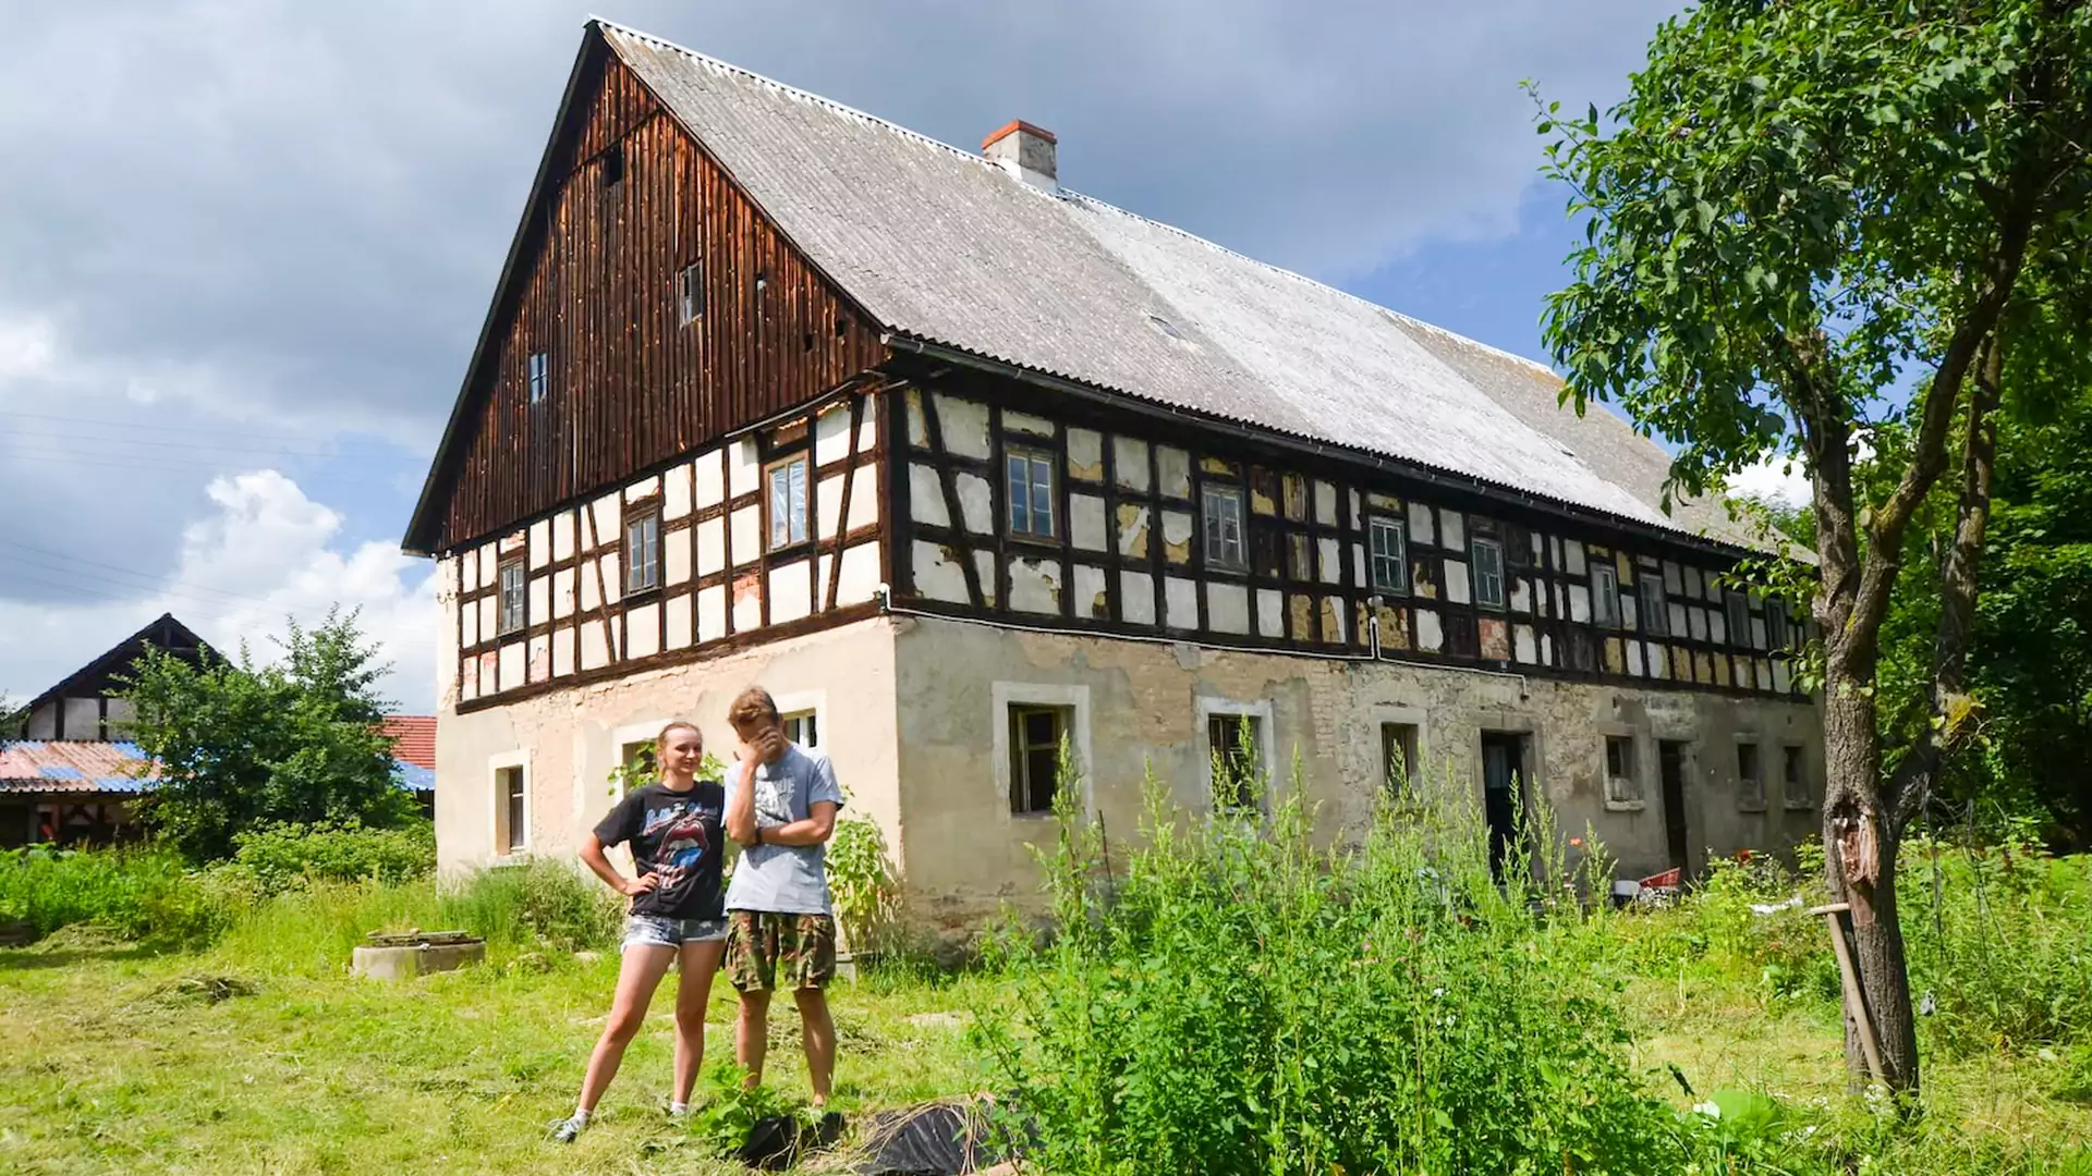
[[[791,990],[814,1105],[826,1107],[835,1076],[835,1021],[822,992],[835,975],[826,843],[843,789],[828,755],[784,739],[770,691],[743,691],[726,722],[741,739],[726,791],[726,835],[743,845],[726,885],[726,975],[741,992],[734,1055],[747,1084],[759,1084],[770,994]]]

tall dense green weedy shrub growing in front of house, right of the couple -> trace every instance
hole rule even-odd
[[[1320,852],[1299,793],[1209,820],[1151,781],[1119,877],[1063,801],[1054,933],[1006,933],[977,1009],[1042,1170],[1682,1168],[1697,1130],[1630,1071],[1559,856],[1498,885],[1471,808]]]

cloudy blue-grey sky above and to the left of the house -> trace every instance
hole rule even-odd
[[[433,699],[397,550],[579,44],[559,0],[107,0],[0,44],[0,697],[174,611],[341,603]],[[1615,100],[1669,4],[630,0],[611,19],[1542,358],[1571,245],[1519,90]]]

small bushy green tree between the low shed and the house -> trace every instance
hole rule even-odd
[[[385,665],[356,613],[314,630],[289,621],[285,657],[188,665],[149,651],[128,678],[132,732],[159,760],[142,806],[159,839],[195,862],[230,858],[264,822],[395,827],[412,801],[393,781],[377,695]]]

